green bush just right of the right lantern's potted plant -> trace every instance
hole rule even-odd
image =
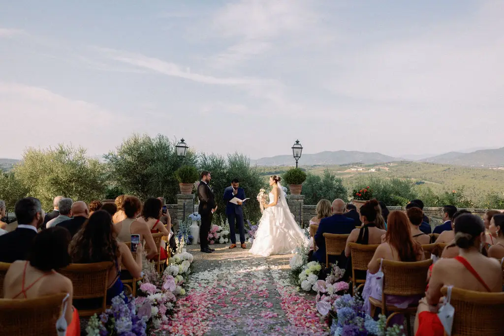
[[[336,198],[347,198],[347,189],[343,186],[343,179],[336,177],[329,169],[322,176],[307,174],[303,184],[302,194],[305,204],[317,204],[321,199],[333,201]]]

